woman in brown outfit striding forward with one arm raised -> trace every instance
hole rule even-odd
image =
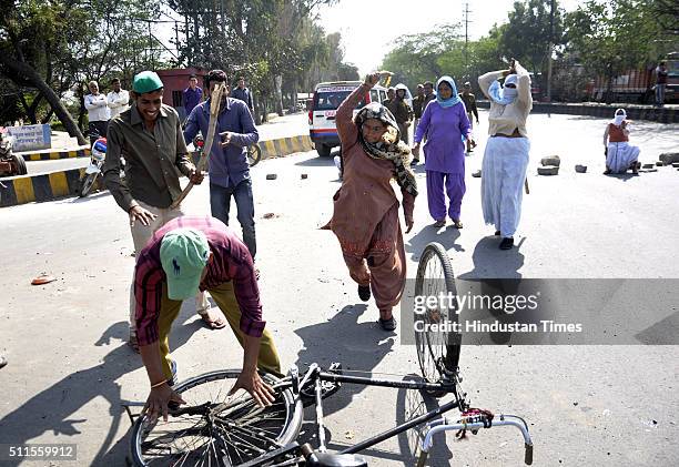
[[[406,278],[406,255],[398,221],[398,199],[391,181],[396,177],[403,193],[407,231],[413,229],[417,182],[411,170],[411,151],[401,141],[394,115],[378,102],[358,111],[361,99],[379,81],[368,74],[340,105],[335,114],[342,142],[344,177],[333,196],[330,229],[337,236],[351,277],[358,283],[358,296],[371,298],[379,309],[379,325],[396,328],[392,308],[401,301]]]

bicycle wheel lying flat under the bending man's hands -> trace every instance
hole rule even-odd
[[[276,398],[260,408],[244,390],[227,397],[240,373],[206,373],[178,384],[175,390],[186,405],[168,423],[139,417],[131,435],[132,464],[237,466],[294,440],[302,426],[302,403],[295,402],[290,387],[263,375]]]

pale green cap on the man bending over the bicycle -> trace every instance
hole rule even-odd
[[[210,257],[207,237],[195,229],[176,229],[161,241],[161,265],[168,277],[168,297],[194,296]]]

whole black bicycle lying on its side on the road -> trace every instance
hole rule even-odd
[[[438,296],[442,292],[456,294],[455,277],[444,247],[430,243],[419,261],[415,295]],[[420,324],[437,324],[444,318],[454,319],[454,307],[442,308],[437,304],[427,307],[425,313],[415,314],[414,319]],[[430,329],[432,326],[415,328]],[[513,426],[524,437],[525,463],[533,464],[533,441],[523,418],[494,415],[469,405],[459,385],[459,337],[429,331],[415,333],[422,370],[417,380],[354,376],[349,374],[354,372],[343,372],[340,364],[331,365],[327,370],[312,364],[304,374],[293,367],[284,378],[264,374],[264,379],[275,389],[275,402],[268,407],[257,406],[245,392],[226,396],[240,370],[212,372],[190,378],[174,387],[186,405],[172,407],[168,423],[151,423],[144,413],[132,415],[125,406],[133,420],[129,460],[134,466],[366,467],[367,461],[356,453],[408,429],[424,427],[417,458],[417,466],[422,467],[433,447],[433,437],[438,433],[456,430],[464,436],[467,430],[476,434],[482,428]],[[450,395],[453,399],[337,454],[330,454],[326,451],[323,399],[340,390],[342,384],[413,389],[436,397]],[[311,405],[316,409],[318,446],[315,449],[296,440],[303,408]],[[454,408],[459,412],[457,417],[444,416]]]

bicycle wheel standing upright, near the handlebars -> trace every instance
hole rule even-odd
[[[462,336],[453,326],[459,309],[453,266],[445,248],[429,243],[419,260],[415,278],[416,297],[436,297],[436,304],[424,303],[415,309],[415,345],[422,376],[435,383],[457,372]],[[445,300],[439,300],[439,297]],[[448,297],[453,300],[448,301]]]

